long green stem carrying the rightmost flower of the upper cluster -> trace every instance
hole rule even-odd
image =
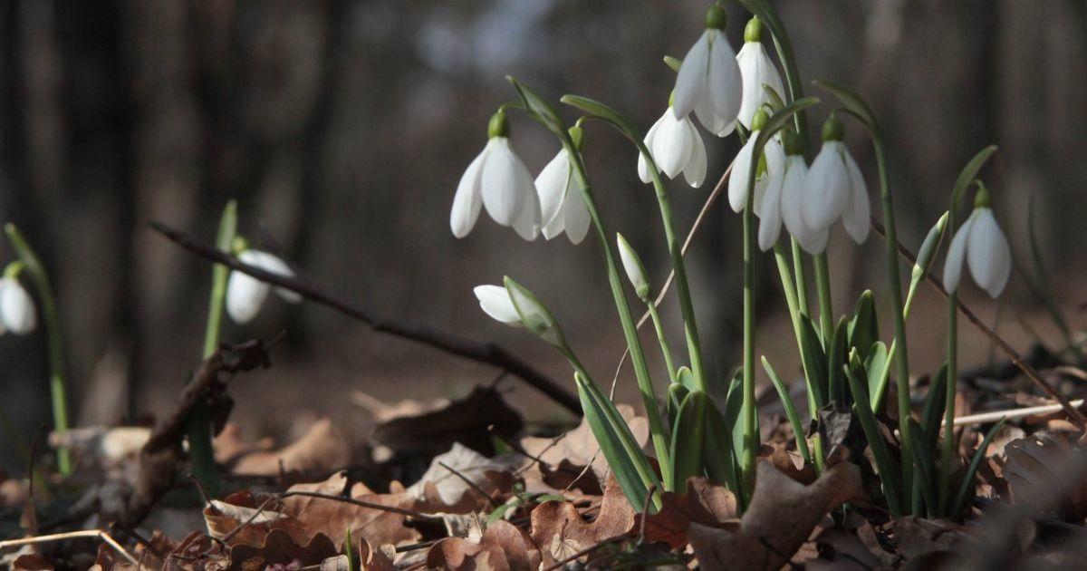
[[[902,489],[913,489],[913,439],[910,429],[910,361],[905,343],[905,315],[902,311],[902,277],[898,268],[898,232],[895,226],[895,201],[890,191],[890,176],[887,173],[887,158],[883,140],[872,133],[876,163],[879,166],[879,199],[883,202],[884,226],[886,228],[887,280],[890,286],[891,309],[895,313],[895,367],[898,378],[898,424],[902,437]],[[890,357],[888,357],[890,358]],[[950,374],[950,372],[949,372]],[[950,387],[951,384],[948,384]]]

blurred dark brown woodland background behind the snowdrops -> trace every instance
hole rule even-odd
[[[804,76],[854,86],[880,117],[902,241],[916,249],[947,208],[960,167],[996,142],[1001,150],[985,178],[997,216],[1024,257],[1033,197],[1057,300],[1078,330],[1087,301],[1087,2],[775,3]],[[490,114],[514,98],[505,74],[549,97],[601,99],[648,127],[674,82],[661,57],[684,55],[707,5],[7,0],[0,216],[24,229],[52,273],[76,422],[132,420],[173,401],[199,362],[211,266],[147,222],[210,243],[230,198],[239,200],[243,233],[257,243],[270,237],[330,290],[389,319],[500,342],[565,384],[569,370],[558,355],[478,310],[473,286],[515,276],[551,307],[600,380],[610,380],[623,342],[592,240],[525,243],[486,216],[458,240],[448,222],[453,190],[486,141]],[[738,49],[747,16],[732,4],[729,14]],[[811,113],[815,133],[828,111]],[[513,116],[512,140],[534,172],[557,150],[521,115]],[[708,183],[671,184],[684,233],[737,150],[735,137],[705,140]],[[874,190],[871,147],[855,124],[847,125],[847,144]],[[632,240],[659,283],[667,269],[664,241],[655,200],[635,172],[635,151],[594,125],[586,153],[608,222]],[[873,206],[877,212],[877,200]],[[689,255],[716,375],[739,357],[739,218],[722,201]],[[836,309],[851,308],[873,287],[889,325],[882,239],[873,235],[854,247],[835,231],[830,248]],[[12,256],[0,248],[0,261]],[[769,257],[759,271],[760,351],[795,373]],[[1038,339],[1055,344],[1055,330],[1023,284],[1013,274],[999,307],[972,283],[964,296],[1021,349]],[[927,287],[919,303],[911,361],[930,371],[945,343],[945,311]],[[678,347],[674,299],[664,313]],[[992,358],[985,339],[963,327],[964,365]],[[361,430],[365,414],[349,398],[353,390],[385,400],[455,396],[497,373],[372,333],[324,307],[278,299],[253,323],[228,324],[224,339],[280,331],[287,337],[273,353],[275,367],[234,385],[235,420],[253,435],[288,438],[299,419],[323,415]],[[49,422],[47,377],[40,330],[0,338],[0,406],[25,434]],[[624,370],[620,398],[634,401],[633,386]],[[569,419],[517,380],[503,387],[529,419]],[[0,450],[12,458],[8,442]]]

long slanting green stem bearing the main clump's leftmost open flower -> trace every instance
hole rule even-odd
[[[619,274],[619,266],[615,263],[615,252],[612,250],[612,243],[608,239],[608,232],[600,218],[596,200],[592,197],[592,188],[589,186],[588,176],[585,173],[585,164],[582,162],[580,153],[573,148],[569,138],[563,140],[563,146],[573,161],[577,182],[582,189],[582,197],[585,206],[589,210],[592,219],[592,226],[596,228],[597,240],[600,249],[603,250],[604,264],[608,268],[608,284],[611,286],[612,297],[615,299],[615,309],[619,312],[620,323],[623,325],[623,335],[626,345],[630,349],[630,364],[634,367],[634,374],[638,381],[638,390],[641,393],[641,401],[646,408],[646,417],[649,420],[649,432],[653,440],[653,450],[657,452],[657,461],[661,466],[661,471],[667,473],[672,470],[671,452],[669,450],[667,434],[664,430],[664,422],[661,420],[661,411],[657,406],[657,395],[653,392],[652,377],[649,375],[649,365],[646,363],[646,353],[638,338],[638,330],[634,324],[634,316],[630,314],[630,306],[627,303],[626,295],[623,293],[623,281]],[[678,276],[678,272],[676,273]]]

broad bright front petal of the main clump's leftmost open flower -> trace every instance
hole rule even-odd
[[[522,190],[533,185],[533,176],[510,148],[510,139],[491,137],[487,147],[489,152],[483,163],[480,181],[483,206],[495,222],[511,226],[525,206]]]

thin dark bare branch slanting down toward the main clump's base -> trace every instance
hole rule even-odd
[[[378,315],[370,308],[351,303],[334,296],[325,290],[325,288],[310,280],[288,277],[265,272],[260,268],[242,263],[238,261],[237,258],[196,240],[185,233],[171,228],[165,224],[152,221],[150,225],[151,228],[159,234],[162,234],[174,244],[201,258],[221,263],[243,274],[249,274],[257,280],[272,284],[275,287],[282,287],[284,289],[295,291],[311,301],[335,309],[336,311],[339,311],[350,318],[354,318],[370,325],[377,333],[387,333],[389,335],[440,349],[458,357],[498,367],[503,371],[508,371],[509,373],[521,377],[521,380],[525,383],[528,383],[540,393],[547,395],[566,410],[577,415],[582,414],[582,405],[576,395],[563,388],[550,377],[537,371],[535,368],[518,359],[499,345],[468,339],[466,337],[439,331],[424,324],[411,323],[404,320],[393,320],[391,318]]]

